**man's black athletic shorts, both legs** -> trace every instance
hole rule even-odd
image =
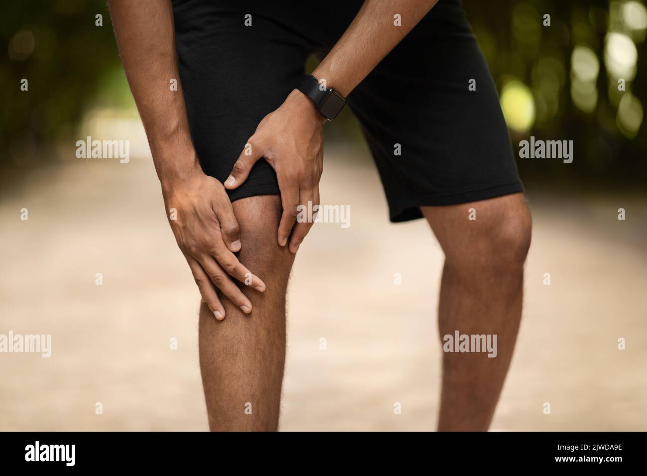
[[[173,0],[180,78],[206,174],[228,177],[261,119],[301,80],[307,58],[323,58],[361,5]],[[459,0],[440,0],[347,100],[377,164],[391,221],[420,218],[425,205],[523,190],[494,81]],[[229,192],[232,201],[279,193],[264,160]]]

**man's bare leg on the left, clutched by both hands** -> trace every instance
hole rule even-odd
[[[233,202],[243,247],[239,260],[267,288],[243,292],[252,301],[245,315],[219,295],[226,317],[216,321],[202,304],[199,348],[209,427],[212,431],[276,431],[285,363],[285,291],[294,260],[276,242],[278,195]]]

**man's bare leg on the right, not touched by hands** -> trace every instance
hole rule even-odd
[[[469,220],[469,209],[476,220]],[[444,335],[496,334],[498,355],[445,353],[439,431],[488,429],[512,357],[521,319],[523,263],[531,216],[522,194],[422,207],[443,247],[438,310]]]

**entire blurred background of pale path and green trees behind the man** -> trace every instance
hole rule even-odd
[[[572,164],[518,159],[534,234],[493,429],[646,430],[647,8],[463,4],[514,150],[531,135],[575,143]],[[0,38],[0,334],[53,341],[49,359],[0,354],[0,429],[207,429],[199,295],[104,1],[4,2]],[[433,429],[442,253],[426,223],[389,225],[348,108],[326,133],[322,197],[351,205],[351,227],[319,224],[296,260],[282,429]],[[129,140],[130,162],[78,159],[87,135]]]

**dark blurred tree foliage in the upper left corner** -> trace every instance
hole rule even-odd
[[[119,58],[102,0],[2,2],[0,37],[0,162],[23,164],[74,130]]]

